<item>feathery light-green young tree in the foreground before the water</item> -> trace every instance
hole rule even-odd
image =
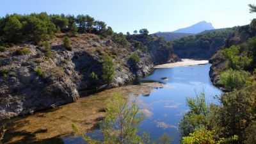
[[[100,130],[104,135],[103,141],[92,140],[84,136],[76,124],[72,124],[72,128],[88,143],[140,143],[142,139],[138,134],[138,126],[142,120],[143,115],[139,113],[135,102],[129,104],[122,95],[114,93],[112,99],[107,101],[106,117],[100,125]]]

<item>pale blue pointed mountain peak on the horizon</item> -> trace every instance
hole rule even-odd
[[[182,29],[178,29],[176,31],[172,31],[172,33],[196,34],[196,33],[201,33],[202,31],[205,31],[205,30],[210,30],[210,29],[214,29],[211,22],[202,21],[202,22],[198,22],[192,26],[189,26],[188,28],[182,28]]]

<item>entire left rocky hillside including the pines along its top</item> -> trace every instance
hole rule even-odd
[[[66,19],[54,17],[59,21]],[[92,28],[63,26],[58,30],[61,32],[52,29],[48,33],[22,25],[31,22],[42,24],[45,29],[56,26],[46,13],[8,15],[3,19],[6,20],[1,21],[4,28],[0,33],[0,120],[74,102],[87,93],[146,76],[155,64],[177,61],[172,45],[162,38],[147,33],[127,38],[122,33],[113,33],[102,22],[92,24]],[[25,21],[20,24],[19,19]],[[45,21],[48,25],[44,25]],[[17,25],[9,26],[8,22]],[[8,27],[15,27],[14,33],[6,33]],[[17,35],[19,40],[10,39]]]

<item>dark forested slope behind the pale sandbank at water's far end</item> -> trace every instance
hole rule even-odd
[[[234,33],[235,29],[210,31],[173,40],[173,50],[180,58],[211,58],[225,44],[225,40]]]

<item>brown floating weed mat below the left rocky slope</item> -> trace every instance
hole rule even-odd
[[[83,132],[95,129],[105,116],[105,101],[114,92],[125,97],[128,97],[129,93],[138,97],[138,95],[148,95],[155,88],[164,86],[163,83],[141,83],[111,88],[54,109],[4,120],[1,125],[5,125],[7,131],[3,142],[6,144],[61,143],[62,136],[72,134],[72,123],[79,125]]]

